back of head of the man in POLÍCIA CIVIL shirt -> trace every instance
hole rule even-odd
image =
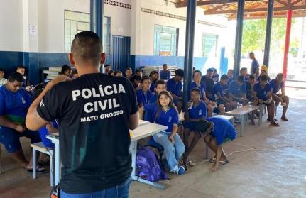
[[[99,65],[102,48],[103,45],[97,33],[82,31],[75,35],[71,45],[71,53],[76,60],[89,61],[93,65]]]

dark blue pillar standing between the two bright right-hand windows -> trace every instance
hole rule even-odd
[[[183,102],[187,105],[188,86],[192,81],[193,66],[193,47],[195,41],[195,16],[197,9],[197,0],[187,1],[187,20],[186,20],[186,38],[185,38],[185,59],[184,59],[184,90]]]

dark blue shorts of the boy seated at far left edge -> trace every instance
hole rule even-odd
[[[19,133],[12,128],[0,126],[0,143],[4,145],[8,153],[15,153],[16,151],[21,150],[21,143],[19,140],[21,137],[31,139],[31,143],[41,142],[38,131],[26,130],[23,133]]]

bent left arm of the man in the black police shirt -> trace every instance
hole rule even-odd
[[[69,81],[71,80],[70,77],[67,77],[65,75],[60,75],[59,77],[51,80],[46,86],[45,89],[43,89],[43,92],[39,94],[39,96],[33,101],[30,108],[28,109],[28,114],[26,115],[26,126],[35,131],[39,128],[45,126],[49,121],[44,120],[40,117],[37,111],[37,107],[40,104],[40,101],[42,101],[43,97],[45,97],[45,94],[52,89],[52,87],[55,84],[58,84],[59,82]]]

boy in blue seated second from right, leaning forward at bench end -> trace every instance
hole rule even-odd
[[[273,126],[279,126],[274,119],[275,103],[272,99],[272,87],[268,83],[268,76],[261,75],[261,82],[257,82],[254,85],[254,104],[266,104],[268,109],[268,121]]]

